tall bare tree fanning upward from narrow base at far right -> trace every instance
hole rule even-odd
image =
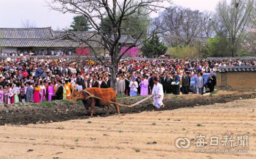
[[[250,26],[253,0],[222,0],[213,16],[213,26],[217,35],[229,46],[232,57],[241,47],[246,29]]]

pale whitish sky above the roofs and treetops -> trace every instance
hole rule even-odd
[[[172,0],[174,5],[199,11],[214,11],[220,0]],[[230,0],[229,0],[230,1]],[[164,4],[169,6],[169,3]],[[151,16],[156,17],[158,13]],[[56,30],[70,26],[73,21],[71,13],[51,11],[45,0],[1,0],[0,5],[0,28],[21,28],[21,21],[35,21],[36,27],[52,27]]]

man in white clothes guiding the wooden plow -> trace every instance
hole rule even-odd
[[[163,85],[157,81],[157,78],[153,79],[153,82],[155,83],[152,94],[155,94],[155,106],[160,108],[161,106],[164,107],[163,104],[163,98],[164,98],[164,90]]]

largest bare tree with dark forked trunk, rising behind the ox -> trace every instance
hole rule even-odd
[[[134,3],[136,2],[136,3]],[[79,32],[65,32],[62,36],[72,37],[73,41],[79,43],[80,45],[86,45],[90,48],[90,52],[93,53],[95,58],[97,58],[103,65],[110,68],[111,71],[111,87],[116,90],[116,73],[117,65],[121,60],[121,57],[131,48],[137,47],[148,41],[153,34],[150,34],[149,28],[147,26],[137,30],[134,29],[132,35],[122,37],[125,34],[125,29],[122,27],[122,23],[129,19],[130,15],[137,14],[140,15],[142,21],[149,21],[151,19],[143,19],[143,16],[149,15],[151,12],[158,12],[161,9],[167,9],[167,7],[161,5],[163,2],[169,2],[170,0],[124,0],[124,1],[107,1],[107,0],[47,0],[47,4],[52,10],[59,11],[62,13],[73,13],[81,15],[83,14],[88,19],[89,23],[95,31],[87,34],[86,36],[81,36],[83,33]],[[144,11],[147,10],[145,13]],[[169,10],[169,9],[167,9]],[[111,31],[106,32],[105,26],[99,26],[99,23],[103,21],[106,16],[110,19]],[[131,20],[131,19],[130,19]],[[135,23],[138,22],[138,19]],[[103,24],[103,23],[102,23]],[[130,24],[130,26],[134,26]],[[172,29],[172,28],[171,28]],[[155,27],[154,34],[161,34],[165,31],[170,30],[170,28],[163,29],[159,26]],[[140,40],[141,36],[147,35],[146,39]],[[60,36],[60,37],[62,37]],[[131,36],[136,37],[131,42]],[[121,37],[123,38],[121,40]],[[129,47],[122,53],[119,54],[121,48],[130,43]],[[105,61],[103,56],[95,48],[104,48],[111,56],[111,62]]]

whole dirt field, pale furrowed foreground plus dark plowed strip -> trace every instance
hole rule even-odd
[[[130,108],[130,112],[127,112],[129,108],[121,107],[121,113],[129,114],[114,115],[115,109],[112,108],[108,117],[101,117],[106,113],[106,108],[96,107],[94,118],[88,118],[83,107],[75,108],[80,115],[76,110],[73,111],[76,115],[70,115],[73,105],[61,105],[62,109],[58,106],[34,107],[37,118],[42,118],[42,113],[47,116],[47,113],[53,112],[47,119],[42,119],[45,122],[50,122],[52,115],[59,112],[54,120],[61,122],[45,124],[27,124],[38,121],[30,114],[32,108],[25,107],[22,111],[15,107],[2,108],[0,122],[5,125],[0,127],[0,158],[256,158],[255,93],[228,94],[228,97],[224,94],[214,95],[204,98],[204,101],[196,96],[170,96],[164,99],[167,107],[161,111],[156,111],[149,104],[150,101],[148,105],[138,106],[138,111]],[[233,98],[238,101],[233,101]],[[226,103],[228,101],[233,102]],[[129,102],[126,101],[126,104]],[[174,108],[174,105],[177,107]],[[9,110],[5,112],[9,118],[2,116],[6,110]],[[19,110],[18,113],[15,110]],[[19,120],[26,118],[29,122],[19,123],[15,118],[18,114],[28,114],[19,116]],[[58,117],[60,114],[62,118]],[[9,123],[20,125],[7,124],[10,119],[13,121]],[[248,152],[195,153],[197,147],[193,143],[199,133],[206,136],[205,141],[209,142],[211,136],[219,137],[218,146],[207,143],[199,149],[225,149],[220,140],[227,133],[235,139],[232,150],[247,149]],[[248,147],[235,146],[238,135],[249,136]],[[195,140],[191,141],[189,148],[178,149],[175,140],[179,137]],[[135,152],[136,149],[140,152]]]

